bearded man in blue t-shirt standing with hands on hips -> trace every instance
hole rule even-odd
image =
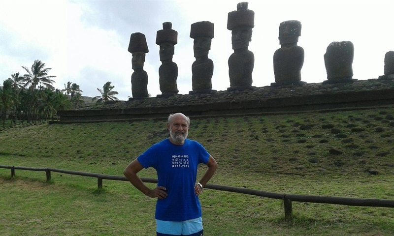
[[[158,198],[156,204],[157,236],[202,236],[201,206],[198,195],[214,175],[218,164],[196,141],[187,139],[190,119],[182,113],[168,117],[170,137],[142,153],[132,161],[124,175],[143,194]],[[197,166],[205,164],[208,169],[196,183]],[[153,167],[158,184],[148,188],[137,173]]]

